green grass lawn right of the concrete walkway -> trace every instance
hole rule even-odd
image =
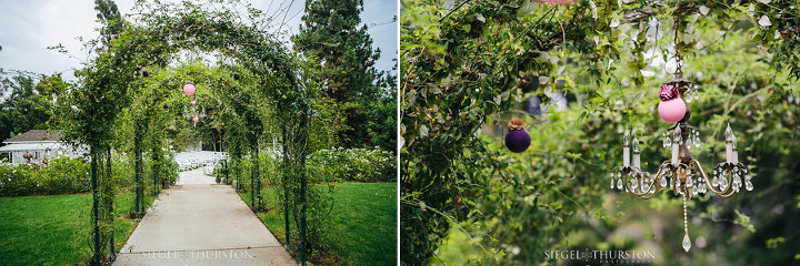
[[[337,265],[397,264],[397,183],[341,183],[334,185],[334,206],[326,232]],[[274,187],[264,188],[268,206],[277,205]],[[241,193],[249,205],[250,193]],[[274,208],[258,216],[286,245],[283,214]],[[292,232],[294,236],[297,232]],[[328,259],[324,259],[326,262]],[[329,264],[316,262],[317,264]]]

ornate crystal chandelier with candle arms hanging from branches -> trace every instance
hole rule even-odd
[[[677,33],[676,27],[676,43]],[[713,167],[710,178],[700,162],[692,158],[690,149],[692,145],[700,146],[700,132],[688,123],[690,111],[683,101],[684,99],[697,99],[698,93],[691,81],[682,79],[682,58],[678,49],[676,49],[676,78],[661,85],[659,92],[661,98],[659,115],[664,121],[674,123],[663,131],[663,147],[671,149],[671,157],[663,161],[654,174],[643,171],[640,166],[639,139],[626,130],[622,144],[622,166],[612,170],[610,182],[611,188],[616,187],[644,200],[652,198],[661,190],[671,190],[674,195],[680,196],[683,200],[682,247],[689,252],[691,239],[687,223],[687,201],[692,195],[708,192],[728,197],[738,193],[742,187],[752,191],[753,185],[747,166],[739,162],[737,139],[730,124],[724,133],[726,162]],[[633,150],[632,162],[631,147]]]

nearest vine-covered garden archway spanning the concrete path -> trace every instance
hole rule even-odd
[[[230,125],[246,125],[243,131],[252,156],[258,157],[258,139],[262,134],[263,121],[258,105],[247,102],[263,98],[273,109],[276,121],[283,139],[283,184],[296,177],[300,181],[300,236],[304,242],[304,190],[308,100],[313,93],[300,81],[297,61],[282,44],[258,27],[237,22],[234,14],[227,11],[207,11],[200,7],[183,3],[180,7],[154,4],[140,10],[134,23],[121,19],[106,19],[101,29],[104,45],[97,49],[97,57],[77,75],[80,88],[74,92],[76,104],[69,115],[76,123],[66,131],[66,136],[77,143],[87,144],[91,155],[92,176],[92,223],[94,265],[102,257],[114,254],[113,241],[113,185],[111,184],[111,143],[114,140],[114,123],[120,113],[133,106],[133,94],[146,84],[139,69],[166,68],[171,58],[187,49],[203,52],[217,51],[247,69],[242,81],[229,76],[219,81],[226,90],[246,102],[233,106],[241,121]],[[121,18],[121,17],[120,17]],[[243,83],[253,90],[246,91]],[[158,98],[150,100],[160,106]],[[153,106],[150,105],[150,106]],[[144,121],[144,120],[141,120]],[[140,121],[140,122],[141,122]],[[142,126],[142,124],[140,124]],[[141,153],[141,149],[136,153]],[[141,154],[136,155],[137,158]],[[138,168],[137,173],[140,173]],[[258,164],[253,164],[252,176],[258,178]],[[286,191],[284,196],[289,196]],[[284,204],[289,204],[286,200]],[[258,206],[258,205],[257,205]],[[288,208],[284,208],[288,209]],[[288,211],[284,211],[288,212]],[[288,213],[284,214],[284,217]],[[287,227],[289,219],[287,219]],[[289,231],[287,228],[287,241]],[[306,247],[306,243],[301,247]],[[304,248],[300,248],[304,260]]]

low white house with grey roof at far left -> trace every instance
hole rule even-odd
[[[60,131],[31,130],[3,141],[0,153],[9,154],[9,163],[21,164],[29,161],[23,154],[30,153],[30,163],[41,164],[44,160],[57,156],[79,157],[81,153],[70,145],[59,142]]]

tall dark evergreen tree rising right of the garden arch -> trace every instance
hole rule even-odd
[[[318,60],[324,96],[343,109],[350,129],[341,132],[340,139],[347,146],[373,144],[370,122],[378,117],[372,115],[372,104],[382,94],[377,84],[381,73],[373,68],[380,49],[372,50],[367,25],[359,27],[361,11],[361,0],[307,0],[304,24],[292,38],[294,49]]]

